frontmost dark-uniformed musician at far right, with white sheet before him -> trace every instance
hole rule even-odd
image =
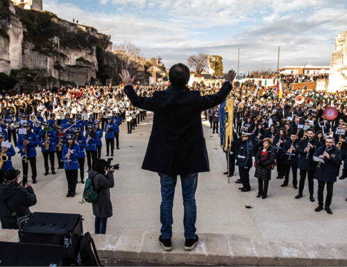
[[[321,146],[314,152],[315,157],[320,157],[324,160],[324,163],[318,163],[316,167],[316,180],[318,180],[318,207],[314,209],[316,212],[320,212],[323,209],[323,191],[326,184],[327,195],[325,198],[324,209],[328,214],[332,214],[330,209],[332,200],[332,190],[334,182],[337,181],[337,175],[341,165],[341,150],[335,146],[335,141],[332,137],[327,137],[325,140],[325,146]]]

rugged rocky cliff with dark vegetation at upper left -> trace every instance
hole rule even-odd
[[[110,36],[95,28],[0,0],[0,73],[28,89],[95,80],[111,49]]]

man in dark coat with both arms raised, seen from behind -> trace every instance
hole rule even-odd
[[[175,64],[169,71],[170,87],[166,91],[154,92],[152,97],[137,96],[131,86],[135,77],[130,78],[128,71],[122,71],[120,76],[126,85],[124,90],[130,102],[135,107],[154,112],[142,169],[155,171],[160,176],[162,227],[159,242],[164,250],[172,249],[172,207],[177,175],[180,175],[185,208],[185,250],[193,250],[198,243],[195,234],[198,173],[210,171],[201,112],[226,99],[232,89],[235,71],[229,71],[221,90],[210,96],[200,96],[198,91],[189,91],[185,86],[189,81],[189,68],[181,63]]]

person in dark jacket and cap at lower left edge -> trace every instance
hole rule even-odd
[[[0,221],[3,229],[18,229],[17,218],[31,214],[29,207],[36,204],[31,183],[19,184],[20,171],[8,169],[5,182],[0,185]]]

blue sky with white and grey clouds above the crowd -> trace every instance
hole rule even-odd
[[[43,0],[44,10],[94,26],[115,44],[132,42],[166,67],[189,55],[223,57],[224,71],[329,65],[347,31],[346,0]]]

